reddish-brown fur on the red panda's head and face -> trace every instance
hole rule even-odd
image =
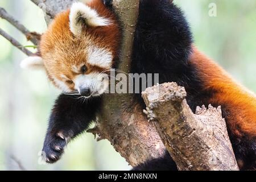
[[[40,52],[51,81],[53,81],[52,77],[65,81],[60,75],[65,75],[72,80],[76,73],[71,72],[71,67],[72,65],[86,64],[88,55],[85,54],[84,50],[90,44],[107,47],[112,52],[113,57],[117,57],[119,39],[121,38],[117,18],[100,0],[94,0],[88,6],[95,9],[100,16],[108,17],[112,23],[104,27],[87,26],[80,37],[75,37],[69,28],[70,10],[58,14],[40,42]],[[86,65],[88,67],[86,74],[104,71],[102,68]],[[53,84],[55,84],[54,81]],[[71,84],[68,86],[73,89]]]

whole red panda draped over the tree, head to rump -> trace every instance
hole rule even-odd
[[[53,106],[44,141],[48,163],[59,160],[68,140],[86,130],[100,111],[97,96],[108,87],[102,78],[118,60],[122,35],[111,2],[74,3],[56,16],[42,36],[40,57],[22,62],[23,67],[46,69],[49,80],[64,92]],[[174,81],[184,86],[193,111],[196,106],[221,105],[240,169],[256,168],[255,94],[193,46],[188,23],[171,1],[140,1],[130,72],[159,73],[159,83]],[[144,105],[141,95],[134,95]],[[77,102],[80,97],[88,102]],[[177,168],[166,154],[134,169]]]

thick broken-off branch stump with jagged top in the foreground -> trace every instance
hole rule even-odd
[[[239,170],[220,106],[197,107],[193,114],[186,92],[176,83],[147,88],[144,111],[179,170]]]

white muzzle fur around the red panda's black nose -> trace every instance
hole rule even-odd
[[[76,76],[75,89],[89,88],[92,96],[100,96],[108,88],[109,80],[108,75],[105,73],[90,73],[88,75]]]

